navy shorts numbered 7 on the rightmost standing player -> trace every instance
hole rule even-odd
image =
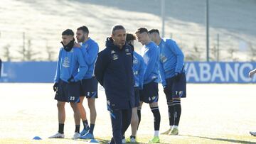
[[[186,97],[186,74],[183,72],[181,78],[178,82],[171,77],[166,79],[166,99],[167,101],[174,98],[184,98]]]

